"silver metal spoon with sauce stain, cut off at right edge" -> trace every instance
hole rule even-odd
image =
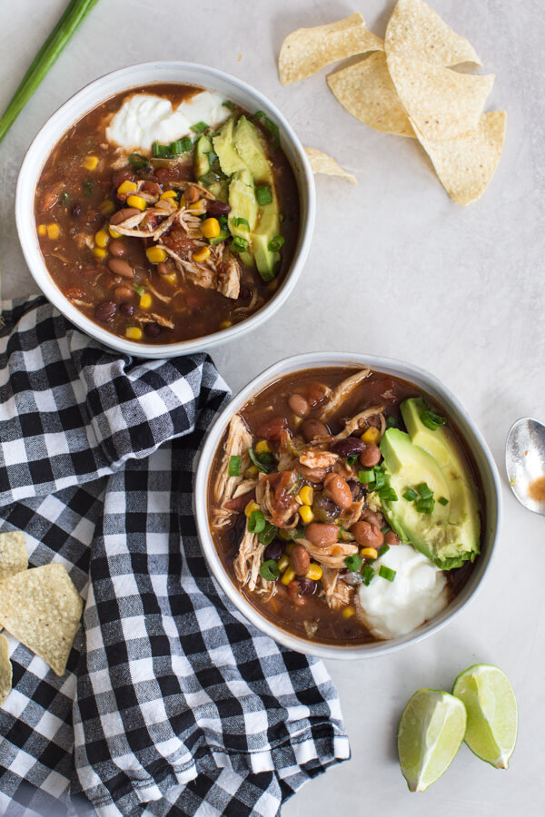
[[[505,468],[520,505],[545,516],[545,426],[542,423],[530,417],[513,423],[505,444]]]

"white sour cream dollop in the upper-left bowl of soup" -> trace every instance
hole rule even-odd
[[[170,100],[157,94],[133,94],[114,113],[106,128],[106,139],[129,149],[149,151],[155,141],[169,144],[191,133],[192,125],[223,123],[231,111],[226,97],[202,91],[173,109]]]

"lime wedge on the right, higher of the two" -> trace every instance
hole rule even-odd
[[[497,666],[474,664],[452,687],[468,712],[465,742],[481,760],[507,769],[517,742],[517,699],[505,673]]]

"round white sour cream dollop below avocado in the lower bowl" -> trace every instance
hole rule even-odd
[[[395,545],[373,562],[396,571],[392,582],[375,576],[360,585],[359,615],[378,638],[395,638],[416,629],[449,604],[444,573],[411,545]]]

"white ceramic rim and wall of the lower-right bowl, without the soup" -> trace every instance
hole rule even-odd
[[[455,596],[451,604],[437,615],[430,622],[414,630],[412,633],[402,635],[399,638],[392,638],[390,641],[374,642],[365,645],[335,646],[316,644],[302,637],[292,635],[282,627],[272,624],[272,621],[265,618],[258,610],[248,602],[229,574],[223,567],[222,560],[218,556],[213,543],[212,534],[208,522],[208,479],[212,468],[214,454],[223,438],[223,432],[229,424],[233,414],[248,402],[253,395],[271,384],[274,380],[284,375],[303,369],[313,369],[327,366],[345,367],[369,367],[375,371],[385,372],[401,379],[409,380],[420,386],[423,391],[435,398],[441,406],[448,411],[451,418],[461,431],[463,438],[467,441],[479,473],[486,503],[485,520],[486,527],[483,531],[483,541],[481,556],[475,563],[471,575],[465,586],[462,587],[458,596]],[[208,566],[222,586],[224,592],[233,602],[233,605],[253,625],[258,627],[266,635],[270,635],[280,644],[308,655],[318,655],[322,658],[369,658],[373,655],[383,655],[391,653],[402,646],[415,644],[431,633],[436,633],[447,622],[451,621],[461,609],[465,607],[481,586],[482,579],[490,565],[492,550],[496,542],[496,537],[500,529],[500,477],[498,469],[490,454],[490,450],[481,436],[479,428],[472,421],[468,412],[461,406],[461,403],[446,389],[438,379],[422,369],[418,369],[409,363],[401,360],[376,358],[372,355],[352,355],[344,352],[313,352],[311,354],[297,355],[286,358],[279,363],[275,363],[270,369],[266,369],[257,378],[253,379],[247,386],[234,397],[222,413],[213,422],[208,430],[201,450],[199,463],[196,471],[195,485],[193,490],[194,511],[197,519],[197,528],[203,547],[203,554]]]

